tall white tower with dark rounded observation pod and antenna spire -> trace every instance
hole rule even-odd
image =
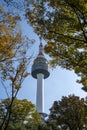
[[[48,78],[48,62],[44,57],[44,48],[42,42],[39,45],[39,53],[33,62],[31,75],[37,79],[36,109],[39,113],[44,113],[44,79]]]

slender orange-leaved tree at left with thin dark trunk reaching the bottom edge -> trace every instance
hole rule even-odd
[[[24,79],[29,75],[27,66],[31,56],[27,55],[30,40],[23,37],[18,25],[20,17],[10,15],[2,8],[0,8],[0,16],[0,80],[7,97],[10,98],[9,109],[6,111],[0,129],[7,130],[14,100]],[[8,89],[10,93],[8,93]]]

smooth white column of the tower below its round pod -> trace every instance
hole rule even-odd
[[[44,112],[44,75],[42,73],[37,74],[36,108],[39,113]]]

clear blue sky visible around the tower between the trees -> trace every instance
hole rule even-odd
[[[21,22],[22,31],[24,35],[27,35],[30,39],[35,39],[34,45],[32,45],[30,54],[34,54],[34,57],[37,57],[38,48],[39,48],[39,37],[33,32],[32,27],[27,25],[26,21]],[[43,41],[43,44],[46,44],[46,41]],[[46,56],[48,59],[48,56]],[[32,59],[33,61],[34,59]],[[32,62],[29,66],[29,71],[31,71]],[[49,78],[45,79],[44,88],[45,88],[45,113],[49,113],[49,108],[52,106],[55,100],[60,100],[62,96],[68,96],[70,94],[75,94],[79,97],[86,97],[87,93],[84,92],[81,87],[81,84],[76,83],[76,80],[79,77],[73,72],[56,67],[55,69],[50,69]],[[22,88],[18,93],[19,99],[28,99],[32,103],[36,103],[36,88],[37,80],[34,79],[31,75],[28,76]],[[2,87],[0,87],[0,99],[5,98],[6,94]]]

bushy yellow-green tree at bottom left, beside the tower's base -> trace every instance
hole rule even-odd
[[[3,118],[9,111],[11,99],[3,99],[0,102],[0,125]],[[41,122],[40,114],[36,111],[35,106],[27,99],[15,99],[9,119],[7,130],[51,130],[47,124]]]

